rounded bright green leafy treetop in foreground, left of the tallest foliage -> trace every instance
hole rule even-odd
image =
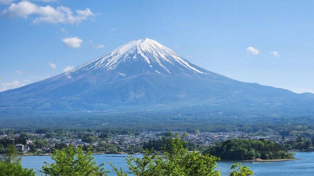
[[[51,154],[51,158],[55,163],[49,164],[45,162],[45,166],[41,166],[40,172],[50,176],[103,176],[107,175],[101,163],[97,166],[93,161],[90,149],[86,153],[83,152],[82,147],[74,149],[73,145],[67,148],[56,150]]]

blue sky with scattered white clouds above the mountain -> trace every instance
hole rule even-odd
[[[314,93],[313,1],[0,0],[0,91],[149,38],[235,80]]]

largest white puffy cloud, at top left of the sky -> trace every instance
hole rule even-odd
[[[35,14],[37,17],[33,20],[33,23],[67,23],[78,24],[83,20],[86,20],[89,16],[93,16],[94,13],[89,8],[85,10],[76,10],[77,15],[73,15],[70,8],[59,6],[57,8],[47,6],[38,6],[35,3],[28,1],[22,1],[19,3],[12,3],[8,8],[2,11],[3,16],[10,18],[22,17],[27,18],[29,15]]]

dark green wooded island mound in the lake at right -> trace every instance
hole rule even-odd
[[[265,139],[229,139],[209,147],[205,153],[225,160],[294,158],[294,153],[288,153],[287,149],[279,143],[272,143]]]

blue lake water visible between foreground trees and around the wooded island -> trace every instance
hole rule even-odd
[[[116,175],[111,166],[107,161],[112,162],[117,168],[122,167],[124,171],[127,170],[126,162],[122,156],[127,156],[126,154],[103,154],[103,155],[93,155],[95,161],[100,163],[106,163],[106,170],[111,171],[108,173],[110,176]],[[116,157],[120,156],[120,157]],[[142,155],[134,155],[135,157],[142,157]],[[278,161],[278,162],[260,162],[260,163],[251,163],[251,162],[241,162],[242,165],[249,166],[254,172],[255,176],[313,176],[314,175],[314,152],[296,152],[295,158],[300,158],[299,160],[290,160],[290,161]],[[34,168],[35,171],[41,169],[41,165],[44,165],[44,162],[47,161],[52,163],[50,156],[26,156],[23,157],[22,166],[28,168]],[[231,167],[234,161],[224,161],[218,162],[217,169],[227,173],[228,168]],[[37,173],[41,175],[41,173]]]

